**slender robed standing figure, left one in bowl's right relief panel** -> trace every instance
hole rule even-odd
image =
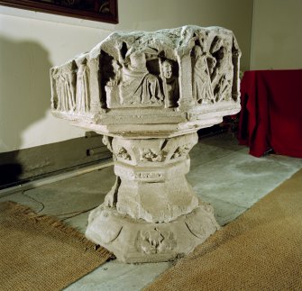
[[[193,48],[193,96],[199,104],[214,103],[211,77],[207,68],[206,53],[196,45]]]

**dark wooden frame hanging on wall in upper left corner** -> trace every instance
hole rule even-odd
[[[0,0],[0,5],[102,23],[118,23],[117,0]]]

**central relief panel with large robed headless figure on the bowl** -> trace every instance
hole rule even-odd
[[[118,42],[117,58],[103,52],[105,97],[108,108],[175,107],[178,101],[178,63],[164,51]]]

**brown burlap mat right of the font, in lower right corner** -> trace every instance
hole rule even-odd
[[[302,290],[302,170],[145,290]]]

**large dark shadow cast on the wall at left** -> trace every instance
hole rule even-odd
[[[32,41],[0,36],[0,187],[23,173],[22,133],[50,108],[48,51]],[[39,132],[37,132],[37,135]]]

